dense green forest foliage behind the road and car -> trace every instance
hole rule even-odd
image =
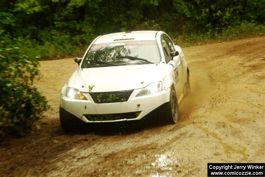
[[[258,30],[264,33],[265,25],[263,0],[0,2],[2,34],[10,35],[12,40],[33,40],[42,58],[75,55],[95,37],[112,32],[163,30],[188,43],[193,39],[256,34]]]

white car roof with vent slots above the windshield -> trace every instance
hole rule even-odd
[[[142,41],[142,40],[156,40],[156,33],[158,31],[130,31],[130,32],[116,32],[100,36],[94,44],[120,42],[120,41]]]

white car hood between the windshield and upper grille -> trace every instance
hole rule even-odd
[[[165,77],[166,64],[144,64],[78,69],[75,88],[89,92],[124,91],[144,88]]]

